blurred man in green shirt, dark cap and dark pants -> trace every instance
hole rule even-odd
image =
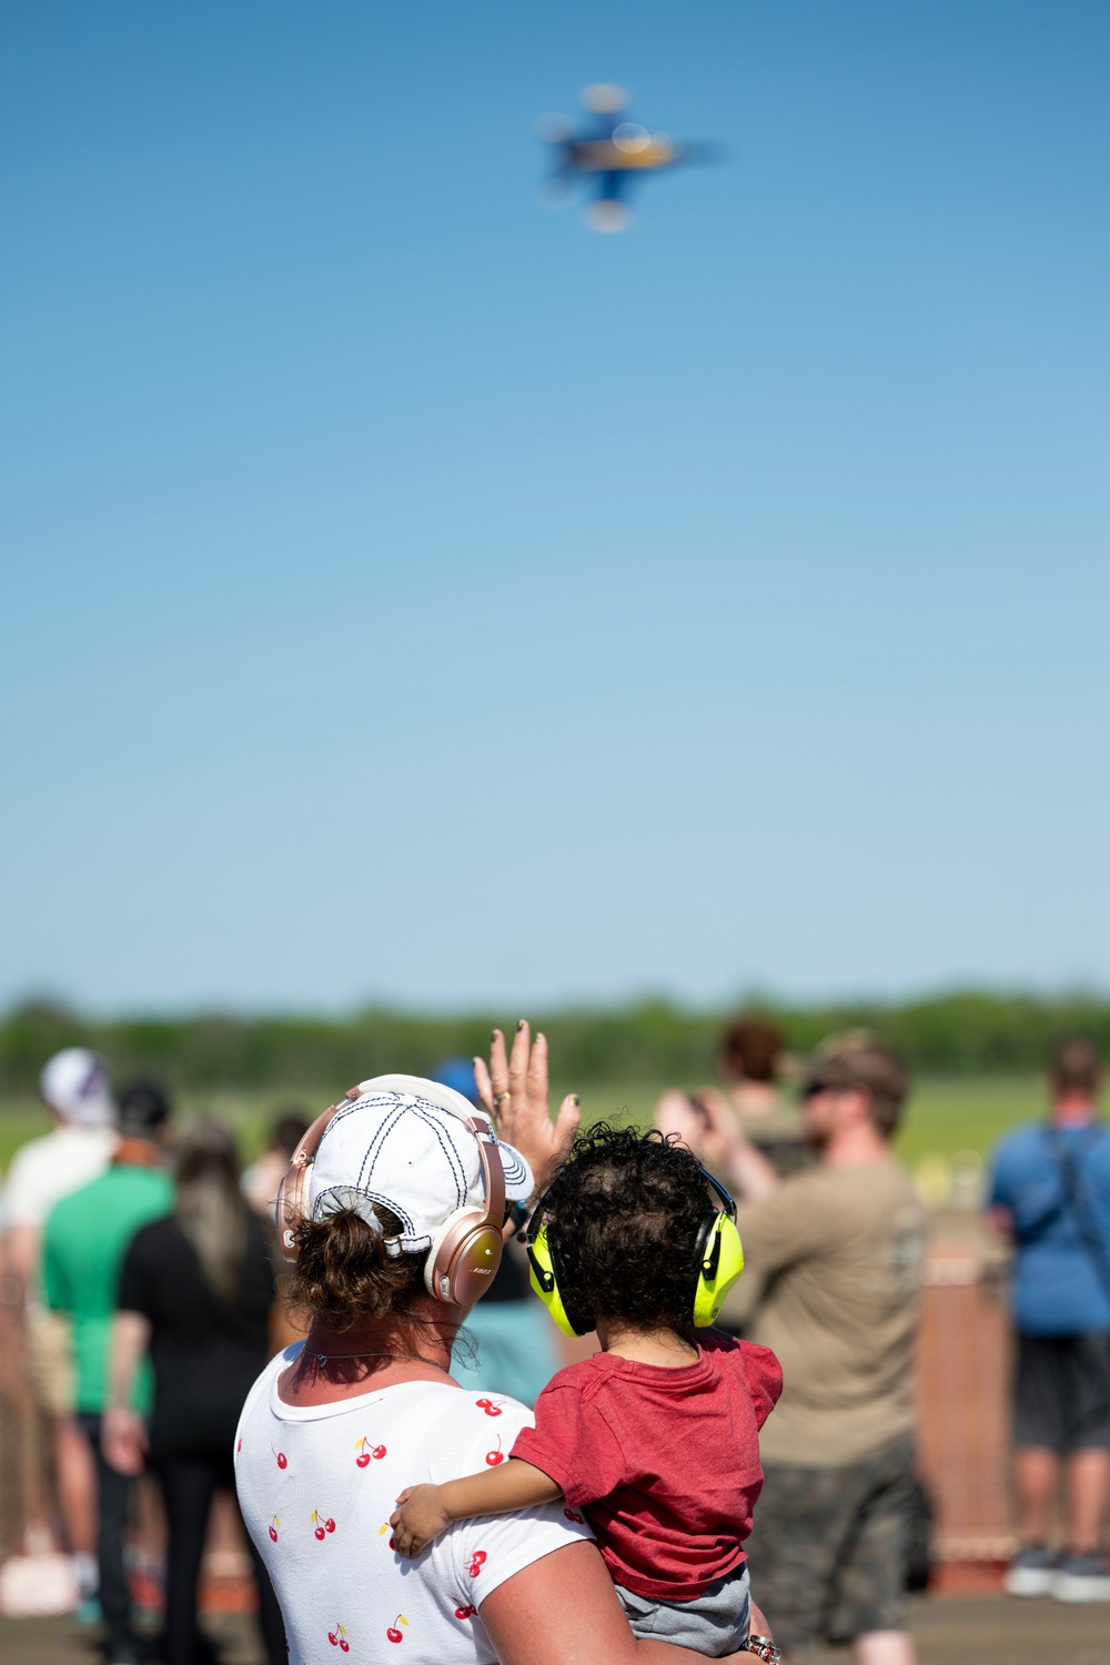
[[[73,1324],[77,1422],[97,1459],[100,1607],[107,1627],[108,1665],[138,1665],[131,1630],[123,1532],[130,1479],[105,1462],[100,1420],[108,1402],[108,1340],[116,1307],[120,1265],[131,1237],[168,1214],[173,1185],[161,1164],[170,1106],[150,1084],[120,1101],[120,1144],[111,1166],[92,1184],[63,1197],[47,1219],[43,1297]],[[150,1405],[150,1379],[136,1379],[133,1409]]]

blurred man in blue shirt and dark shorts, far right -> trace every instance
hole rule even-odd
[[[995,1149],[989,1207],[1013,1240],[1015,1480],[1022,1547],[1010,1595],[1110,1602],[1102,1525],[1110,1497],[1110,1129],[1097,1121],[1100,1059],[1085,1039],[1052,1057],[1047,1122]],[[1067,1480],[1067,1545],[1047,1545]]]

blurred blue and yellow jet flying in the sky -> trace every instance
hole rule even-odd
[[[584,87],[587,120],[576,130],[564,115],[544,115],[536,132],[554,147],[554,166],[544,196],[562,201],[582,180],[594,186],[584,218],[594,231],[622,231],[632,218],[626,196],[632,180],[662,173],[684,162],[709,162],[707,145],[686,145],[669,133],[652,133],[624,120],[629,97],[622,87],[596,82]]]

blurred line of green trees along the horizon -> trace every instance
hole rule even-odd
[[[794,1052],[834,1029],[867,1027],[920,1072],[1038,1071],[1063,1034],[1088,1034],[1110,1057],[1110,1001],[954,992],[905,1004],[785,1006],[752,1002],[774,1017]],[[38,1071],[62,1046],[95,1047],[116,1079],[156,1076],[178,1089],[334,1087],[391,1069],[428,1074],[453,1056],[484,1051],[491,1024],[511,1031],[514,1011],[458,1017],[371,1009],[353,1017],[121,1017],[93,1022],[35,1001],[0,1022],[0,1094],[35,1091]],[[664,1001],[617,1009],[531,1011],[553,1046],[559,1082],[711,1079],[717,1037],[731,1012],[689,1012]]]

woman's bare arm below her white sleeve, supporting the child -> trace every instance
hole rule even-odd
[[[594,1543],[567,1543],[499,1583],[479,1605],[501,1665],[699,1665],[702,1653],[629,1630]],[[751,1653],[731,1653],[751,1665]]]

